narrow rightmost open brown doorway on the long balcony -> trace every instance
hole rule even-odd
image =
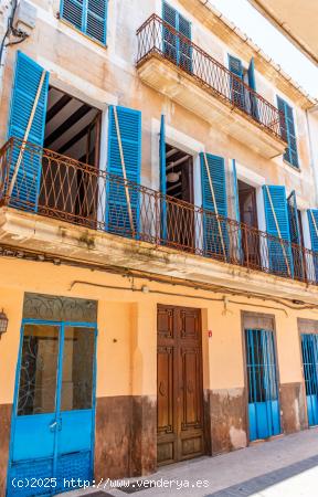
[[[257,222],[256,189],[237,181],[240,220],[247,226],[242,237],[243,261],[253,267],[259,266],[259,235]]]

